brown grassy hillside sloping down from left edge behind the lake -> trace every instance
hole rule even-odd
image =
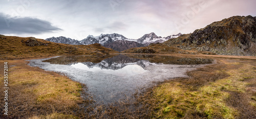
[[[53,55],[104,55],[118,53],[100,44],[69,45],[53,43],[33,37],[0,36],[0,60]]]

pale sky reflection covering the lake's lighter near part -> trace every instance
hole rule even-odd
[[[153,81],[163,81],[174,77],[185,77],[185,72],[202,65],[164,65],[145,60],[115,63],[74,63],[57,65],[42,62],[46,59],[32,59],[29,65],[48,71],[65,73],[72,80],[84,83],[96,101],[109,103],[122,99],[123,94],[131,96],[140,87],[147,87]],[[114,65],[113,65],[114,64]],[[116,66],[116,67],[113,67]]]

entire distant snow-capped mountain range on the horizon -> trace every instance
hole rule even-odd
[[[46,40],[55,42],[55,43],[65,43],[65,44],[71,44],[71,45],[90,45],[94,43],[99,43],[106,47],[111,47],[111,48],[115,47],[115,50],[121,51],[125,49],[123,47],[127,47],[127,48],[143,47],[151,43],[158,43],[158,42],[163,43],[171,38],[177,38],[180,35],[181,33],[162,38],[162,37],[158,37],[155,33],[150,33],[150,34],[145,34],[143,37],[136,40],[136,39],[127,39],[123,35],[114,33],[114,34],[101,34],[96,37],[89,35],[86,39],[83,39],[81,41],[74,40],[71,38],[66,38],[66,37],[57,37],[57,38],[52,37]],[[138,44],[134,42],[138,42]]]

